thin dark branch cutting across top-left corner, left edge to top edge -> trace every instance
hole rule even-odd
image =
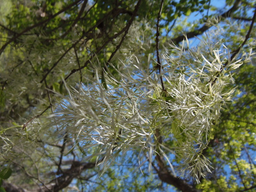
[[[7,45],[11,44],[13,41],[15,41],[17,38],[19,38],[21,35],[23,35],[24,33],[30,31],[31,29],[34,29],[35,27],[41,26],[44,23],[47,23],[49,20],[53,19],[54,17],[57,17],[58,15],[60,15],[62,12],[67,11],[68,9],[70,9],[70,7],[76,5],[77,3],[79,3],[81,0],[76,0],[74,3],[71,3],[70,5],[64,7],[63,9],[61,9],[59,12],[55,13],[54,15],[51,15],[50,17],[48,17],[46,20],[43,20],[39,23],[36,23],[33,26],[27,27],[26,29],[24,29],[22,32],[16,34],[13,38],[11,38],[9,41],[7,41],[6,44],[3,45],[3,47],[1,47],[0,49],[0,55],[2,54],[3,50],[7,47]]]

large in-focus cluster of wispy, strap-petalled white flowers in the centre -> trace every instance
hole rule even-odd
[[[98,157],[102,170],[118,155],[139,150],[140,160],[149,161],[149,167],[159,153],[171,167],[171,161],[178,161],[182,175],[190,172],[199,180],[203,170],[210,171],[203,150],[233,91],[225,89],[231,74],[227,69],[220,73],[228,53],[224,47],[209,50],[205,56],[200,50],[185,49],[184,42],[171,47],[162,57],[161,74],[150,70],[154,68],[150,57],[147,64],[141,64],[132,55],[133,62],[128,64],[120,61],[117,68],[109,64],[103,82],[101,69],[95,65],[96,81],[72,88],[66,85],[69,97],[50,116],[52,125],[73,134],[88,157]],[[239,63],[228,67],[234,65]],[[163,142],[157,139],[156,130]]]

